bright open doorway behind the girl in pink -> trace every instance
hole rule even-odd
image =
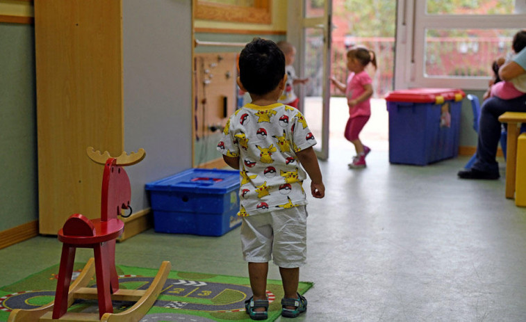
[[[347,50],[363,45],[375,51],[378,69],[372,72],[371,118],[360,138],[372,150],[388,151],[388,113],[385,95],[393,90],[395,61],[396,1],[332,0],[331,74],[345,83]],[[374,69],[373,69],[374,70]],[[330,146],[342,150],[343,157],[354,155],[354,147],[343,131],[349,117],[347,99],[331,86]],[[347,150],[349,152],[347,152]]]

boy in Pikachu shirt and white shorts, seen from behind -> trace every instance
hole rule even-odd
[[[274,42],[249,42],[241,51],[239,72],[238,85],[252,103],[230,116],[217,150],[240,170],[241,244],[253,293],[245,308],[251,319],[267,319],[272,258],[283,281],[281,315],[296,317],[307,309],[307,300],[297,293],[299,266],[306,262],[306,173],[314,198],[323,198],[325,191],[313,151],[316,141],[302,113],[277,102],[287,75],[285,56]]]

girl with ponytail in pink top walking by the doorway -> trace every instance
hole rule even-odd
[[[370,97],[372,96],[372,80],[365,67],[372,64],[377,69],[375,53],[365,47],[354,47],[347,51],[347,69],[350,70],[347,84],[331,77],[332,83],[345,92],[349,105],[349,120],[345,126],[345,138],[350,140],[356,150],[356,156],[349,163],[350,168],[365,168],[365,156],[371,149],[363,145],[359,134],[371,115]]]

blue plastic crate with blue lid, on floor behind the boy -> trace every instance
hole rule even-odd
[[[241,223],[239,171],[189,169],[146,184],[154,230],[221,236]]]

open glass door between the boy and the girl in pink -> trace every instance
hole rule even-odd
[[[331,72],[331,0],[304,0],[299,17],[300,46],[297,56],[301,74],[309,82],[299,90],[300,106],[318,141],[318,158],[329,157],[329,102]]]

